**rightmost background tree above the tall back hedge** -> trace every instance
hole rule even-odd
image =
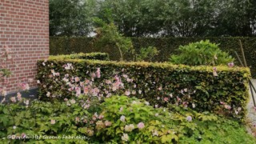
[[[255,36],[254,0],[218,1],[214,36]]]

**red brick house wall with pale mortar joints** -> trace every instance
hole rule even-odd
[[[13,74],[7,78],[7,91],[18,90],[18,82],[34,79],[38,59],[49,55],[49,0],[0,0],[0,51],[4,46],[14,52]],[[0,65],[3,64],[0,62]],[[1,68],[1,66],[0,66]],[[0,89],[3,83],[0,83]],[[1,95],[1,94],[0,94]]]

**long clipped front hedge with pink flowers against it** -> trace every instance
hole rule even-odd
[[[47,97],[63,99],[80,89],[98,98],[126,94],[145,98],[153,106],[172,103],[244,117],[249,97],[249,69],[216,68],[218,77],[213,75],[212,66],[49,59],[38,62],[39,95],[46,100]],[[98,91],[96,95],[95,91]]]

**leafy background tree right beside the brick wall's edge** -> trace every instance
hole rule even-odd
[[[50,36],[85,36],[90,33],[90,2],[50,0]]]

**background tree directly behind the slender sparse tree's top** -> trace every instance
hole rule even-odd
[[[96,17],[113,21],[118,30],[128,37],[158,34],[162,22],[158,12],[163,2],[157,0],[105,0],[98,2]]]

